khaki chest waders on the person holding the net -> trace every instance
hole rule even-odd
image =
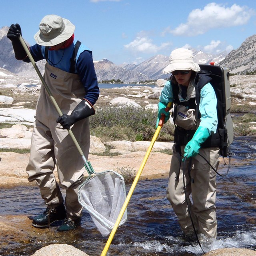
[[[44,79],[63,114],[70,114],[85,95],[78,74],[65,72],[46,63]],[[55,208],[63,203],[60,187],[64,188],[67,217],[75,219],[82,212],[82,206],[78,202],[78,187],[83,181],[84,161],[68,131],[62,130],[62,126],[56,122],[58,116],[42,86],[36,106],[36,121],[26,172],[29,181],[36,181],[47,206]],[[90,148],[88,118],[76,122],[72,132],[84,156],[88,158]],[[59,184],[53,172],[55,167]]]

